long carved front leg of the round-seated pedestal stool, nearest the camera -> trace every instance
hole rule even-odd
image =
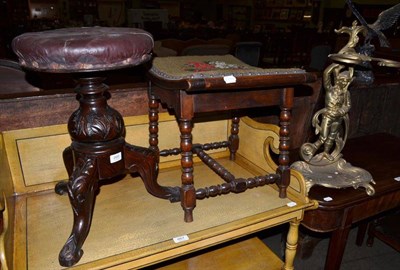
[[[74,265],[83,255],[82,245],[89,233],[97,188],[98,171],[96,158],[80,154],[75,161],[74,170],[67,184],[74,224],[71,235],[58,257],[62,266],[69,267]]]

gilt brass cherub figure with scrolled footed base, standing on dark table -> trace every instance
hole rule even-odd
[[[356,24],[351,29],[357,32],[362,30]],[[303,144],[300,156],[304,161],[297,161],[291,166],[304,175],[308,190],[313,185],[332,188],[352,186],[364,187],[368,195],[375,193],[370,184],[374,183],[371,174],[347,163],[341,154],[349,127],[351,100],[348,88],[355,78],[354,65],[364,59],[363,56],[356,59],[357,54],[352,50],[356,44],[354,39],[351,40],[349,46],[335,55],[336,61],[324,70],[325,107],[312,119],[318,139],[314,143]]]

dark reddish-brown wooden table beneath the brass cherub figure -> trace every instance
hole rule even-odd
[[[319,207],[305,213],[302,225],[315,232],[332,232],[326,270],[340,269],[352,225],[400,206],[400,182],[394,180],[400,176],[399,137],[374,134],[350,139],[342,153],[347,162],[372,174],[376,192],[368,196],[362,189],[311,188],[309,197],[317,200]],[[359,242],[366,224],[360,227]]]

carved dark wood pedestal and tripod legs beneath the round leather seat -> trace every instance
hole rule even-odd
[[[58,194],[68,194],[74,215],[71,235],[59,255],[63,266],[72,266],[83,254],[99,180],[138,173],[150,193],[169,196],[154,185],[158,174],[155,152],[125,142],[122,116],[107,105],[107,87],[102,81],[98,77],[79,80],[80,107],[68,122],[72,144],[64,150],[63,158],[70,180],[55,188]]]

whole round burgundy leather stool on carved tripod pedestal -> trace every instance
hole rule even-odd
[[[12,45],[25,68],[79,77],[80,107],[69,118],[72,144],[63,153],[70,178],[55,188],[58,194],[68,193],[73,208],[73,229],[59,254],[62,266],[72,266],[83,254],[99,180],[139,173],[151,194],[166,199],[170,194],[155,181],[157,155],[125,142],[122,116],[107,105],[108,87],[99,72],[148,61],[153,38],[132,28],[65,28],[26,33]]]

